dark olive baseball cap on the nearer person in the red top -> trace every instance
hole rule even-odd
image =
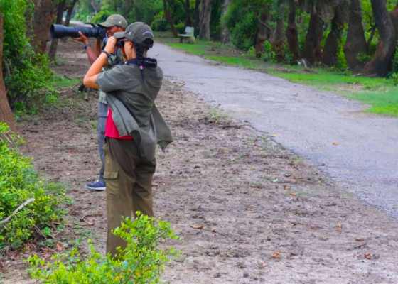
[[[127,38],[133,43],[142,45],[154,45],[154,33],[151,28],[143,22],[131,23],[131,25],[126,28],[126,31],[114,33],[113,36],[117,39]]]

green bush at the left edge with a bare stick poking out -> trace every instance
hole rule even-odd
[[[0,249],[18,249],[31,239],[35,226],[44,229],[59,222],[65,214],[61,205],[68,200],[62,187],[39,178],[31,160],[16,150],[19,143],[23,141],[0,122]],[[33,202],[4,222],[31,198]]]

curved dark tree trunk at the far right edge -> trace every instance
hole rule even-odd
[[[365,65],[364,72],[367,75],[376,74],[379,77],[385,77],[392,65],[397,38],[389,17],[386,0],[371,0],[371,3],[380,42],[377,45],[375,56]]]

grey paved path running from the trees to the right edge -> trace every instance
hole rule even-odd
[[[247,120],[308,158],[349,192],[398,217],[398,119],[368,115],[363,106],[260,72],[225,67],[161,44],[150,50],[166,78]],[[333,145],[338,142],[339,145]]]

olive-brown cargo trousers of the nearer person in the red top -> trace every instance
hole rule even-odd
[[[140,211],[149,217],[152,209],[152,176],[156,160],[144,162],[138,156],[136,144],[131,140],[106,138],[105,172],[107,182],[107,253],[115,256],[118,247],[124,249],[126,242],[114,236],[112,230],[120,226],[122,217],[131,217],[131,212]]]

